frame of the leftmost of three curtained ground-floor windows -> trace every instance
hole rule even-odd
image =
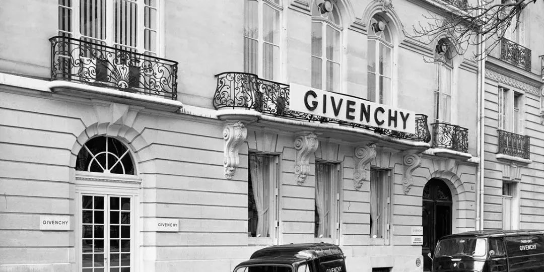
[[[259,156],[267,158],[268,160],[268,178],[269,178],[269,211],[270,211],[270,237],[249,237],[248,236],[248,245],[278,245],[279,244],[279,225],[280,225],[280,156],[274,154],[264,154],[257,152],[249,152],[248,154],[248,182],[251,177],[250,169],[250,156]],[[251,181],[253,182],[253,181]],[[249,211],[249,184],[248,184],[248,211]],[[249,224],[249,217],[248,217]],[[248,233],[249,233],[249,225]]]

